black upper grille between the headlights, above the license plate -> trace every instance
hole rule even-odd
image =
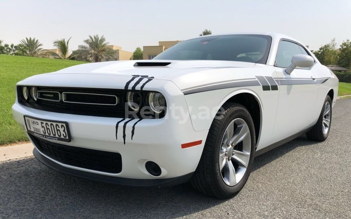
[[[19,87],[20,88],[20,87]],[[19,103],[30,108],[66,114],[124,118],[125,90],[99,88],[38,87],[38,93],[58,92],[59,101],[41,98],[36,102]],[[44,92],[46,91],[46,92]],[[20,92],[20,90],[18,90]],[[57,94],[57,93],[56,93]],[[62,98],[64,97],[64,98]]]

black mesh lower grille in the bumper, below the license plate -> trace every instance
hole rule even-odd
[[[57,144],[29,135],[41,153],[60,163],[107,173],[122,171],[120,153]]]

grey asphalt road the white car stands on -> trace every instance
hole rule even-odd
[[[351,99],[339,100],[325,142],[301,137],[255,158],[234,198],[94,182],[29,158],[0,163],[0,218],[351,218],[350,155]]]

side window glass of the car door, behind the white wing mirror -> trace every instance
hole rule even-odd
[[[275,66],[281,68],[286,68],[290,66],[292,56],[298,54],[308,55],[306,50],[303,47],[297,45],[296,43],[289,41],[280,41]]]

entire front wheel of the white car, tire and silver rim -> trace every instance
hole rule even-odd
[[[226,103],[208,132],[198,167],[191,179],[208,196],[229,198],[249,178],[256,145],[251,115],[240,104]]]

